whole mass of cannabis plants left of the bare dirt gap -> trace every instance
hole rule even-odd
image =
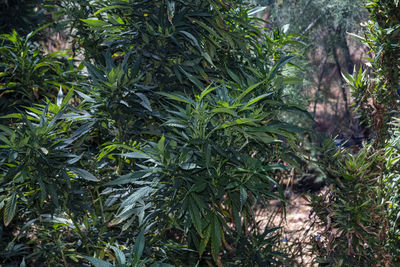
[[[0,126],[3,261],[282,264],[254,210],[299,162],[294,36],[239,1],[53,4],[85,76],[35,33],[2,35],[2,99],[27,106]]]

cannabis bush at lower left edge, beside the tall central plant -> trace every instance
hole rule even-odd
[[[0,209],[5,227],[0,245],[7,252],[10,246],[15,250],[16,240],[34,243],[22,253],[30,252],[33,259],[50,265],[60,261],[62,249],[57,242],[69,240],[72,229],[81,235],[80,242],[88,241],[79,231],[79,222],[93,209],[88,186],[99,181],[85,170],[90,166],[82,166],[81,159],[88,156],[82,143],[90,127],[85,124],[88,116],[68,105],[72,96],[71,90],[63,99],[60,89],[56,103],[3,116],[13,123],[0,125]],[[19,234],[13,237],[13,233]]]

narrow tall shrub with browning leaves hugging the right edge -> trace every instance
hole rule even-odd
[[[393,262],[399,261],[398,231],[398,116],[399,97],[399,61],[400,46],[398,44],[399,1],[371,0],[366,7],[370,11],[371,20],[365,23],[367,28],[363,37],[355,36],[366,44],[371,51],[371,58],[364,71],[360,67],[353,75],[344,77],[353,91],[355,105],[360,115],[369,122],[375,131],[375,147],[384,155],[379,160],[381,183],[378,203],[386,210],[381,219],[382,244],[391,253]],[[369,74],[368,70],[373,73]],[[391,123],[393,122],[393,123]],[[373,170],[374,166],[368,167]],[[386,254],[383,254],[386,256]],[[389,257],[388,257],[389,258]]]

